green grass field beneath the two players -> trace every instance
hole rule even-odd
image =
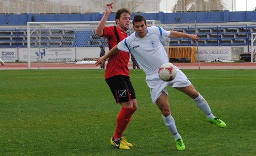
[[[207,99],[218,128],[183,93],[169,101],[185,151],[152,104],[142,70],[131,70],[138,110],[123,135],[130,150],[110,145],[119,104],[104,70],[0,70],[0,155],[255,155],[256,70],[183,70]]]

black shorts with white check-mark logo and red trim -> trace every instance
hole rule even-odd
[[[131,85],[129,77],[125,75],[115,75],[114,77],[106,79],[106,83],[108,83],[116,103],[130,102],[132,99],[136,99],[133,85]]]

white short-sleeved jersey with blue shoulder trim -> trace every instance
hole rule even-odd
[[[133,54],[142,70],[149,74],[158,70],[162,64],[169,62],[166,50],[161,43],[168,36],[170,31],[151,26],[147,28],[146,36],[139,38],[134,32],[118,44],[118,49]]]

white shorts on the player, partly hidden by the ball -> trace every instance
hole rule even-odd
[[[158,76],[158,71],[152,72],[146,75],[147,86],[150,88],[150,95],[152,102],[155,103],[162,92],[165,92],[168,95],[167,86],[170,87],[187,87],[191,85],[191,82],[188,80],[187,76],[175,66],[177,75],[174,80],[170,82],[164,82]]]

